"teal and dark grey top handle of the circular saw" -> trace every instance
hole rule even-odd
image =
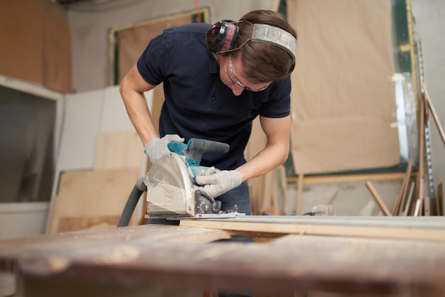
[[[174,141],[168,143],[170,151],[186,156],[188,166],[199,166],[203,153],[227,153],[229,148],[223,142],[206,139],[190,139],[187,144]]]

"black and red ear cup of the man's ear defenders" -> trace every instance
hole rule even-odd
[[[213,53],[225,53],[235,45],[238,26],[235,23],[219,21],[215,23],[205,35],[205,45]]]

